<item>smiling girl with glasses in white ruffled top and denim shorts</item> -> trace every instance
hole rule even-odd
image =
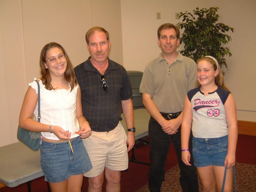
[[[38,113],[38,88],[33,81],[20,111],[20,127],[43,136],[41,166],[51,191],[81,191],[83,173],[92,169],[82,141],[91,135],[91,128],[83,116],[73,66],[64,48],[52,42],[41,51],[40,69],[42,77],[35,80],[40,85],[41,122],[32,118]]]

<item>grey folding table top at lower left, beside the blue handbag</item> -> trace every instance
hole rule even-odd
[[[8,187],[43,176],[40,150],[32,151],[21,142],[0,147],[0,182]]]

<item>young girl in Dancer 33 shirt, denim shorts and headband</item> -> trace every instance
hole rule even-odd
[[[197,61],[198,88],[188,92],[181,124],[182,161],[191,165],[188,139],[193,133],[193,157],[203,191],[232,191],[237,142],[236,103],[224,85],[218,61],[205,56]]]

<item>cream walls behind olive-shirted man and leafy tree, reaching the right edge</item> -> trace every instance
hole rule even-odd
[[[157,28],[163,23],[177,24],[175,12],[193,12],[196,7],[220,9],[220,23],[235,28],[229,33],[233,56],[227,59],[229,70],[225,82],[236,99],[238,120],[256,121],[256,1],[255,0],[121,0],[124,67],[127,70],[144,71],[150,60],[158,57]],[[156,19],[161,12],[161,19]],[[182,34],[182,33],[181,33]],[[182,50],[183,46],[178,50]]]

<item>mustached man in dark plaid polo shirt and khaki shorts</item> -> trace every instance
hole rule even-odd
[[[121,171],[128,168],[127,151],[135,143],[132,87],[124,67],[108,58],[108,31],[93,27],[85,38],[91,56],[75,68],[83,114],[92,129],[91,136],[84,139],[84,146],[93,168],[84,176],[89,178],[88,192],[102,190],[104,172],[106,191],[119,192]],[[122,110],[127,136],[120,123]]]

